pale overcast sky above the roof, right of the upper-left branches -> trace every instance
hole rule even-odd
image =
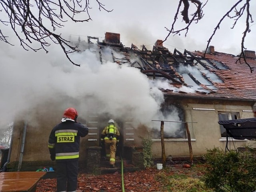
[[[178,0],[148,0],[146,3],[138,0],[105,0],[103,2],[106,8],[114,10],[110,13],[99,11],[97,5],[91,2],[93,7],[90,10],[92,21],[72,24],[72,27],[67,29],[68,34],[80,35],[81,37],[98,36],[101,37],[100,40],[103,40],[105,32],[115,32],[120,33],[120,39],[125,46],[130,47],[131,43],[136,46],[144,44],[152,50],[157,39],[164,40],[167,36],[168,32],[164,27],[170,28],[178,6]],[[180,51],[184,49],[190,51],[204,50],[215,26],[235,2],[237,0],[209,0],[204,8],[204,17],[198,24],[190,26],[187,36],[185,37],[184,32],[180,36],[171,35],[164,46],[171,52],[174,48],[178,48]],[[192,5],[190,6],[192,7]],[[256,15],[255,1],[250,2],[250,11],[252,16]],[[184,26],[180,15],[178,20],[176,30]],[[246,28],[244,21],[245,17],[242,17],[235,28],[231,30],[234,20],[226,18],[210,45],[213,45],[215,50],[219,52],[239,54],[242,33]],[[255,50],[256,25],[251,26],[251,30],[246,37],[245,47],[248,50]]]

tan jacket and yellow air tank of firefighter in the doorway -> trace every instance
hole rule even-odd
[[[102,131],[100,140],[116,140],[116,142],[119,142],[119,138],[120,133],[118,128],[114,124],[110,124]]]

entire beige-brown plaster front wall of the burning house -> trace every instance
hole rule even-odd
[[[167,100],[166,103],[172,103],[173,100]],[[221,138],[220,126],[218,124],[218,112],[239,112],[240,118],[253,118],[253,112],[246,112],[252,110],[253,104],[250,102],[219,102],[219,101],[202,101],[198,100],[178,100],[176,103],[184,111],[184,121],[195,122],[188,123],[190,135],[192,139],[192,151],[194,156],[200,156],[206,153],[207,149],[214,146],[225,148],[226,140]],[[197,110],[196,110],[197,109]],[[198,110],[200,109],[200,110]],[[208,110],[207,110],[208,109]],[[211,110],[209,110],[211,109]],[[46,115],[48,113],[48,115]],[[61,120],[62,111],[36,111],[30,114],[26,125],[26,139],[24,146],[24,153],[22,158],[22,168],[27,169],[31,164],[28,162],[38,162],[40,164],[54,164],[50,160],[48,152],[48,136],[52,128]],[[98,146],[100,133],[104,126],[106,126],[107,118],[88,116],[80,117],[86,119],[90,134],[80,141],[80,164],[86,164],[86,148],[88,146]],[[78,119],[79,120],[79,119]],[[145,126],[134,126],[130,121],[118,120],[120,132],[122,135],[122,146],[141,146],[142,138],[150,138],[150,130]],[[20,150],[22,148],[22,138],[24,131],[24,118],[16,119],[14,123],[12,154],[10,156],[10,167],[18,166],[20,159]],[[141,138],[141,137],[142,138]],[[160,157],[162,154],[161,140],[153,139],[152,152],[154,157]],[[234,146],[233,146],[234,143]],[[244,146],[246,144],[253,144],[254,141],[234,140],[230,142],[230,149]],[[166,139],[165,140],[166,156],[189,156],[188,140],[187,139]],[[124,151],[123,151],[124,152]],[[125,152],[124,152],[125,153]],[[15,164],[15,165],[14,165]],[[34,164],[36,165],[36,164]]]

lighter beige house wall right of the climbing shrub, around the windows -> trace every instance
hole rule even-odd
[[[239,112],[240,118],[254,117],[254,112],[246,112],[252,111],[251,103],[223,102],[220,104],[220,102],[216,102],[216,104],[212,101],[198,104],[195,102],[185,102],[184,100],[180,103],[184,108],[185,121],[195,122],[188,123],[194,156],[200,156],[206,153],[207,149],[211,149],[214,146],[225,150],[226,139],[221,138],[218,112]],[[254,141],[233,140],[233,142],[228,143],[228,148],[234,150],[248,144],[256,147]],[[152,151],[154,156],[161,156],[160,140],[154,140]],[[188,140],[166,139],[165,152],[166,156],[189,156]]]

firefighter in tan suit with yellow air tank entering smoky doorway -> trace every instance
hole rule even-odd
[[[111,168],[115,167],[116,146],[118,146],[120,133],[113,119],[108,121],[108,126],[101,133],[101,146],[105,143],[106,158],[109,160]]]

